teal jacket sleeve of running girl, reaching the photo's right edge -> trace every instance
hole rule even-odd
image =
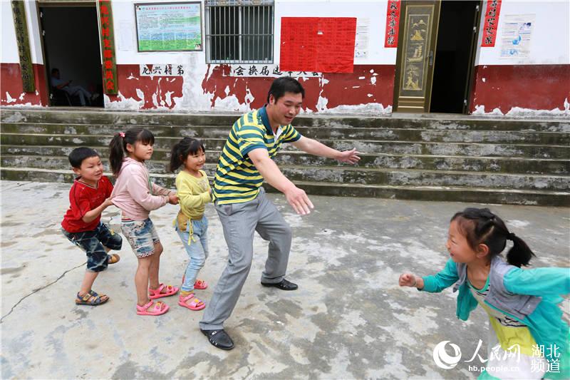
[[[569,294],[570,268],[514,268],[504,275],[503,283],[507,291],[514,294]]]

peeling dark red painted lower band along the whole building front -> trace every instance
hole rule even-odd
[[[24,97],[20,100],[23,90],[19,64],[0,63],[2,106],[26,103],[33,106],[48,104],[43,65],[34,64],[33,70],[38,93],[24,93]],[[140,77],[138,65],[118,65],[117,70],[119,91],[125,98],[140,101],[137,89],[145,94],[142,109],[155,108],[152,101],[154,93],[157,93],[157,103],[167,108],[175,106],[174,98],[182,97],[182,77]],[[377,75],[374,76],[374,73]],[[240,103],[246,102],[247,91],[250,91],[254,98],[250,107],[263,106],[273,78],[236,78],[228,74],[229,66],[209,66],[204,73],[202,92],[214,93],[212,107],[217,99],[227,96],[226,87],[229,87],[229,95],[237,96]],[[323,78],[301,78],[306,90],[304,106],[311,111],[318,111],[319,96],[328,99],[327,108],[366,103],[390,106],[393,104],[394,74],[395,66],[358,65],[354,67],[353,73],[326,73]],[[376,78],[375,84],[371,83],[372,77]],[[170,106],[166,103],[169,91]],[[16,101],[8,103],[6,92]],[[117,96],[109,98],[111,101],[118,100]],[[475,106],[484,106],[485,112],[499,108],[502,113],[507,113],[513,107],[563,110],[566,98],[570,101],[570,65],[477,66],[471,111],[475,111]]]

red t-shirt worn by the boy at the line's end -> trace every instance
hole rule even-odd
[[[101,215],[92,222],[86,223],[81,220],[86,212],[99,207],[105,199],[110,197],[113,191],[113,184],[103,175],[97,184],[97,188],[92,188],[85,183],[75,180],[69,190],[69,209],[63,216],[61,227],[67,232],[93,231],[101,220]]]

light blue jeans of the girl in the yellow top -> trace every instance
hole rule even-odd
[[[190,237],[190,223],[192,223],[192,237]],[[204,267],[204,262],[208,257],[208,220],[205,215],[201,220],[189,220],[185,231],[181,231],[178,222],[176,222],[175,230],[180,236],[182,244],[184,244],[188,257],[190,257],[181,290],[182,292],[190,292],[194,290],[198,272]]]

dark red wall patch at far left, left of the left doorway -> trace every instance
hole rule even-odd
[[[19,63],[0,63],[0,104],[2,106],[14,106],[16,104],[31,103],[32,106],[48,106],[48,89],[46,87],[46,71],[43,65],[33,63],[33,77],[36,81],[36,91],[24,93],[20,100],[22,87],[22,76]],[[8,103],[8,92],[15,102]],[[37,95],[36,95],[37,93]]]

